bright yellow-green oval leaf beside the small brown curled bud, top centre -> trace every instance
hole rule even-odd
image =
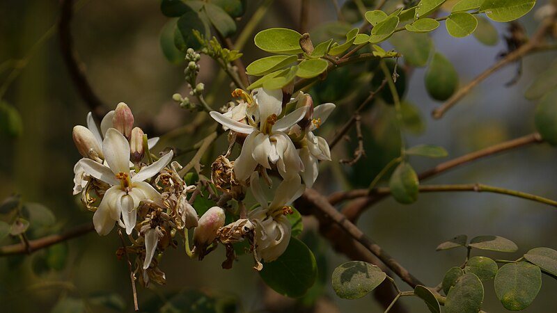
[[[301,54],[300,33],[292,29],[265,29],[253,41],[263,51],[274,54]]]

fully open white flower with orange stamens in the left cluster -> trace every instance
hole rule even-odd
[[[173,157],[173,152],[145,166],[134,174],[130,172],[130,144],[116,129],[110,128],[102,143],[102,152],[108,166],[91,159],[81,159],[79,164],[88,175],[111,185],[102,198],[99,208],[93,215],[95,230],[100,235],[108,234],[114,223],[123,219],[127,234],[131,234],[136,224],[136,211],[139,202],[157,200],[158,191],[144,180],[157,175]],[[134,175],[133,175],[134,174]]]

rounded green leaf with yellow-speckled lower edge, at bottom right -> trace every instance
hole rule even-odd
[[[542,271],[528,262],[505,264],[495,275],[495,294],[507,310],[526,309],[541,287]]]

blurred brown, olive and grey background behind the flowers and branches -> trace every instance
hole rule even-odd
[[[239,29],[263,1],[246,2],[246,13],[238,21]],[[311,9],[308,29],[317,33],[319,26],[336,20],[334,1],[308,2]],[[338,1],[339,6],[344,2]],[[256,31],[269,27],[297,29],[300,3],[296,0],[273,1]],[[74,50],[91,88],[106,109],[125,102],[134,112],[136,125],[146,126],[151,134],[164,135],[171,131],[163,136],[164,145],[189,147],[201,140],[206,132],[202,127],[188,127],[197,113],[180,109],[172,101],[173,93],[185,95],[189,90],[183,79],[185,64],[175,65],[167,61],[160,47],[160,33],[168,17],[160,13],[159,5],[159,1],[77,1],[71,22]],[[542,5],[540,1],[533,11]],[[80,159],[72,142],[72,127],[85,125],[86,113],[90,109],[77,93],[61,57],[56,29],[59,7],[59,1],[52,0],[0,1],[0,86],[5,89],[0,99],[13,106],[22,121],[22,131],[17,136],[0,138],[0,200],[18,194],[24,202],[38,202],[48,207],[55,217],[47,230],[35,230],[29,234],[29,239],[89,223],[93,215],[81,205],[79,196],[72,196],[71,192],[72,168]],[[533,19],[533,11],[519,20],[529,34],[539,23]],[[500,40],[493,46],[482,45],[473,36],[452,38],[442,23],[432,33],[435,50],[455,65],[461,86],[491,66],[498,54],[507,49],[505,40],[501,39],[507,32],[507,25],[494,26],[499,31]],[[384,47],[391,46],[386,43]],[[267,56],[253,45],[252,39],[242,52],[244,64]],[[453,158],[530,134],[535,130],[535,106],[524,98],[524,91],[555,56],[555,52],[550,51],[524,58],[521,77],[511,88],[505,87],[505,83],[515,77],[519,65],[515,63],[503,68],[469,93],[441,120],[430,118],[430,111],[440,103],[432,100],[425,91],[425,69],[407,69],[405,98],[414,104],[420,117],[417,124],[405,131],[407,146],[441,145],[448,150],[449,158]],[[230,101],[229,82],[214,85],[217,67],[205,57],[200,64],[198,81],[205,83],[206,90],[217,90],[210,104],[218,109]],[[350,77],[350,73],[347,75]],[[318,84],[311,90],[315,102],[338,104],[331,122],[320,130],[320,136],[332,138],[335,129],[353,110],[351,108],[370,91],[365,73],[354,75],[357,75],[354,81],[332,77],[328,83]],[[359,85],[354,87],[353,84]],[[400,141],[392,117],[392,106],[380,101],[372,104],[363,113],[366,157],[354,166],[338,163],[339,159],[350,157],[354,151],[356,139],[354,133],[350,133],[354,139],[335,147],[333,161],[322,164],[315,188],[327,194],[343,188],[368,186],[399,149]],[[212,125],[208,120],[207,123]],[[207,161],[224,150],[226,138],[221,136]],[[191,156],[183,154],[180,162],[187,163]],[[451,170],[427,183],[482,183],[557,199],[556,157],[554,147],[530,145]],[[440,162],[420,157],[412,157],[410,161],[417,172]],[[0,220],[7,222],[9,218],[9,214],[0,212]],[[316,255],[319,250],[324,265],[319,268],[320,275],[327,280],[323,290],[327,300],[320,302],[319,312],[382,312],[371,296],[342,300],[334,294],[329,278],[334,268],[347,259],[337,255],[325,241],[317,239],[311,218],[306,222],[304,238],[312,243],[310,246]],[[411,273],[434,286],[442,280],[448,268],[462,264],[466,253],[464,249],[435,252],[442,241],[457,234],[467,234],[469,238],[496,234],[515,241],[519,251],[513,255],[496,252],[484,255],[516,259],[534,247],[557,248],[556,223],[556,209],[538,202],[488,193],[427,193],[421,194],[418,202],[411,205],[388,198],[366,211],[358,225]],[[15,242],[3,239],[1,243]],[[121,312],[122,307],[125,312],[131,312],[129,271],[127,264],[118,261],[115,254],[120,246],[116,232],[102,237],[91,232],[33,255],[1,257],[1,312],[77,312],[71,305],[79,306],[79,299],[90,299],[87,305],[91,312]],[[223,258],[222,248],[203,262],[189,259],[180,248],[168,249],[159,265],[166,273],[167,284],[152,285],[149,289],[139,287],[141,311],[150,312],[148,302],[168,300],[173,293],[180,291],[186,291],[185,294],[193,299],[203,298],[198,296],[200,291],[204,295],[223,298],[225,305],[221,303],[221,306],[236,303],[240,312],[269,312],[280,307],[276,303],[283,300],[276,300],[278,296],[274,291],[264,288],[262,280],[251,268],[249,256],[240,257],[232,270],[221,269]],[[45,262],[49,266],[45,266]],[[399,286],[406,288],[402,282]],[[557,282],[544,275],[540,295],[524,312],[551,311],[550,308],[555,307],[556,288]],[[61,299],[68,298],[76,299],[76,302],[61,304]],[[409,312],[427,312],[427,307],[418,299],[402,298],[400,301]],[[311,312],[304,309],[303,304],[297,308],[300,312]],[[486,284],[483,310],[504,310],[496,300],[493,282]]]

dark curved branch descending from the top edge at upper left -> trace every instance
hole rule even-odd
[[[81,98],[84,99],[91,112],[93,112],[93,115],[95,115],[95,118],[97,118],[97,120],[102,120],[102,117],[107,113],[107,109],[104,109],[104,104],[102,104],[102,101],[97,97],[93,88],[91,88],[91,85],[87,81],[85,72],[83,68],[79,66],[77,55],[73,49],[73,39],[70,28],[73,17],[73,4],[73,0],[61,0],[61,15],[58,21],[60,52],[66,67],[68,67],[70,78],[81,95]]]

